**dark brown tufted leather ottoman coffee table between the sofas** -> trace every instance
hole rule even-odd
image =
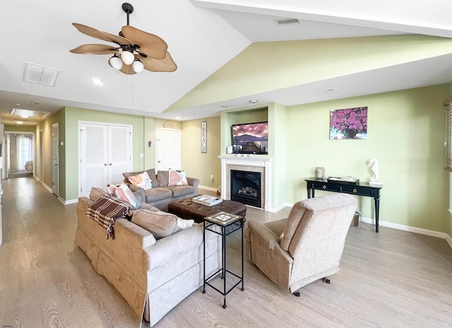
[[[208,207],[206,205],[192,202],[191,198],[185,200],[176,200],[168,204],[168,212],[176,214],[182,219],[194,219],[195,222],[201,223],[205,217],[218,212],[227,212],[230,214],[236,214],[241,217],[246,215],[246,206],[241,202],[235,202],[234,200],[223,200],[218,205]]]

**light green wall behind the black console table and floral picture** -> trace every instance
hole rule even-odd
[[[286,201],[307,198],[304,178],[314,176],[316,166],[325,167],[326,176],[369,181],[367,162],[376,158],[380,219],[450,233],[442,107],[448,94],[449,86],[439,85],[289,107]],[[365,106],[367,140],[329,140],[331,110]],[[359,209],[374,218],[373,199],[360,198]]]

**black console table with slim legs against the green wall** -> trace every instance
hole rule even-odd
[[[375,231],[379,232],[380,189],[383,186],[372,186],[367,182],[343,183],[321,178],[307,178],[304,181],[307,183],[308,198],[314,197],[314,190],[373,197],[375,201]]]

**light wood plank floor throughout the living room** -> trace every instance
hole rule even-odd
[[[75,205],[33,178],[2,181],[0,327],[138,327],[140,320],[73,246]],[[382,206],[384,206],[382,204]],[[286,217],[249,208],[246,219]],[[428,219],[428,218],[426,218]],[[321,245],[319,245],[321,247]],[[228,237],[239,266],[239,235]],[[446,241],[359,223],[347,236],[341,272],[296,298],[245,260],[245,291],[195,291],[155,327],[452,327],[452,250]]]

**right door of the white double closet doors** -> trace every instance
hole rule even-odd
[[[131,128],[108,127],[108,183],[124,181],[124,172],[131,171]]]

